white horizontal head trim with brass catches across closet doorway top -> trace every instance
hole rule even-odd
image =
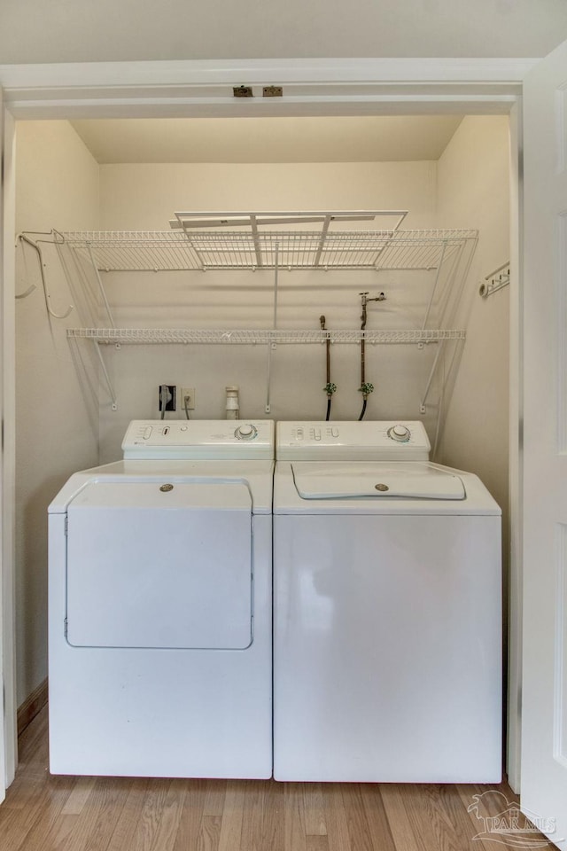
[[[506,113],[536,59],[251,59],[0,66],[17,119]],[[283,86],[262,98],[261,86]],[[253,98],[234,98],[233,86]]]

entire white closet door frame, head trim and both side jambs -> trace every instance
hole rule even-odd
[[[90,62],[52,65],[0,66],[4,89],[5,144],[13,150],[14,120],[142,117],[250,117],[278,115],[387,115],[387,114],[516,114],[511,133],[512,191],[510,246],[512,269],[517,270],[517,304],[512,321],[521,319],[521,95],[525,74],[539,59],[219,59],[140,62]],[[261,98],[261,86],[283,85],[283,98]],[[252,86],[253,98],[234,98],[232,87]],[[4,163],[4,234],[15,230],[13,157]],[[515,215],[514,211],[517,211]],[[5,245],[9,242],[6,240]],[[15,485],[13,430],[15,423],[13,258],[4,253],[2,355],[4,363],[4,495]],[[12,280],[12,285],[11,285]],[[12,317],[12,318],[11,318]],[[520,328],[513,329],[510,374],[521,387]],[[522,446],[519,437],[521,394],[510,400],[510,483],[521,482]],[[521,494],[511,504],[512,586],[521,589]],[[13,661],[13,546],[14,507],[4,501],[4,610],[12,606],[12,620],[3,621],[4,647]],[[516,545],[515,543],[516,542]],[[519,692],[521,669],[521,597],[513,597],[510,621],[510,693]],[[4,661],[5,664],[5,661]],[[8,689],[9,691],[9,683]],[[7,711],[13,723],[4,727],[7,753],[16,753],[15,700],[8,695]],[[509,703],[509,782],[519,790],[519,730],[517,701]],[[11,739],[12,737],[12,739]],[[15,760],[7,771],[12,782]]]

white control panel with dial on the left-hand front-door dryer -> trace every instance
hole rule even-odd
[[[133,420],[122,441],[125,459],[235,459],[274,457],[271,419]]]

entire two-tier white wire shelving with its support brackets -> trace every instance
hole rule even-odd
[[[444,326],[450,324],[454,309],[453,293],[462,288],[470,258],[478,239],[477,230],[400,230],[407,211],[362,210],[301,213],[175,213],[171,230],[156,231],[66,231],[53,230],[35,242],[66,246],[83,267],[90,267],[108,316],[105,328],[69,328],[71,340],[92,340],[116,408],[113,386],[100,355],[99,344],[240,344],[268,345],[269,357],[279,344],[360,343],[377,344],[439,343],[431,376],[420,410],[439,362],[446,340],[463,340],[465,332],[454,328],[430,328],[435,312]],[[384,230],[361,230],[360,223],[376,219]],[[342,230],[333,230],[341,226]],[[352,230],[345,230],[350,228]],[[356,228],[356,230],[354,230]],[[40,255],[41,256],[41,255]],[[175,272],[221,269],[273,269],[273,324],[268,329],[224,328],[116,328],[103,278],[110,272]],[[417,328],[394,331],[305,330],[277,327],[278,275],[283,270],[313,269],[315,272],[338,269],[383,272],[416,270],[431,273],[427,277],[429,293],[423,322]],[[427,300],[426,300],[427,301]],[[458,299],[457,299],[458,301]],[[433,305],[436,310],[433,311]],[[448,320],[448,321],[447,321]],[[267,402],[266,410],[269,410]]]

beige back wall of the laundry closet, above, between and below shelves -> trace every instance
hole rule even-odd
[[[431,226],[435,215],[434,162],[112,165],[101,167],[102,226],[108,230],[167,229],[175,210],[408,209],[404,225]],[[380,227],[377,224],[377,227]],[[361,291],[384,291],[387,301],[369,305],[369,329],[415,327],[423,315],[431,273],[311,272],[282,270],[278,327],[360,326]],[[271,327],[272,271],[105,276],[120,326]],[[419,416],[419,398],[433,352],[417,347],[368,347],[367,380],[376,390],[369,418]],[[266,347],[105,347],[119,410],[101,404],[101,458],[120,457],[131,418],[158,416],[160,383],[196,388],[197,418],[224,416],[225,386],[240,387],[242,416],[264,417]],[[360,349],[331,350],[338,385],[332,416],[358,418],[361,410]],[[279,346],[272,353],[275,419],[324,418],[325,352],[320,345]],[[432,421],[428,422],[432,426]]]

